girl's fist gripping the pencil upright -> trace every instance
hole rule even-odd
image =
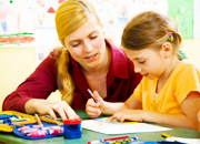
[[[103,100],[97,91],[93,92],[93,96],[96,100],[98,100],[98,103],[96,103],[93,99],[89,99],[86,104],[86,111],[88,116],[98,117],[103,109]]]

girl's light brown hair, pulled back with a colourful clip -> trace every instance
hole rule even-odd
[[[173,40],[169,40],[169,33],[172,33]],[[168,17],[147,11],[136,16],[124,28],[121,45],[130,50],[141,50],[152,48],[160,50],[164,42],[170,42],[173,47],[173,53],[179,54],[181,35],[178,32],[178,25]]]

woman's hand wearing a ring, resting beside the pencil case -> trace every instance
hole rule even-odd
[[[59,115],[62,121],[68,119],[79,119],[79,115],[71,109],[66,101],[49,101],[49,100],[29,100],[26,104],[27,113],[39,113],[41,115],[49,114],[53,120]]]

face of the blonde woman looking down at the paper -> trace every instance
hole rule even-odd
[[[71,56],[84,69],[99,66],[103,61],[106,51],[103,31],[92,18],[67,35],[64,45]]]

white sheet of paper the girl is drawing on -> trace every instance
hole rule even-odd
[[[113,121],[106,121],[104,119],[83,120],[82,128],[91,130],[103,134],[124,134],[124,133],[142,133],[142,132],[158,132],[170,131],[172,128],[157,126],[147,123],[120,123]]]

